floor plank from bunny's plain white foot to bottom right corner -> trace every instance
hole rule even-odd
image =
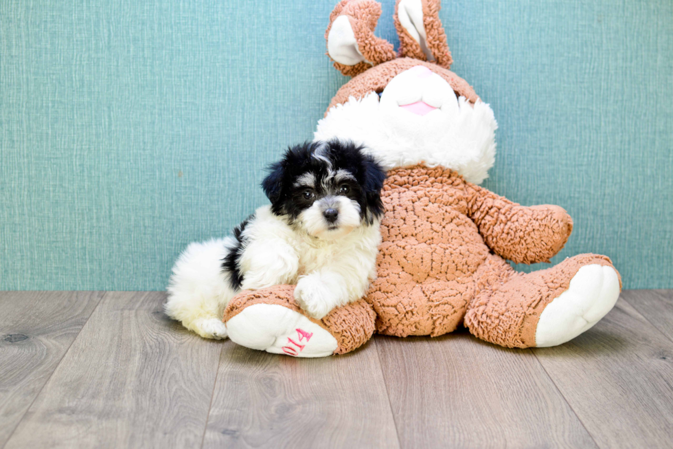
[[[602,448],[670,448],[673,343],[624,299],[575,340],[534,349]]]

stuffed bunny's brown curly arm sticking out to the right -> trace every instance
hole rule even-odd
[[[573,220],[559,206],[521,206],[465,183],[468,216],[486,245],[514,263],[548,262],[568,241]]]

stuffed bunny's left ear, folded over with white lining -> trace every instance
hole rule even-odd
[[[327,54],[342,74],[356,76],[396,57],[391,43],[374,36],[380,15],[381,6],[373,0],[343,0],[334,7],[325,39]]]

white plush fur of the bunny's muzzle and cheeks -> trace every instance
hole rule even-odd
[[[388,170],[424,162],[481,183],[494,163],[498,125],[493,111],[481,101],[471,105],[457,99],[442,77],[423,76],[415,68],[393,78],[380,100],[371,92],[332,107],[318,122],[315,140],[363,144]],[[418,116],[400,107],[417,101],[437,109]]]

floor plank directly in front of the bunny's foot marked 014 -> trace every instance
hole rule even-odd
[[[332,358],[222,351],[205,448],[398,448],[376,342]]]

